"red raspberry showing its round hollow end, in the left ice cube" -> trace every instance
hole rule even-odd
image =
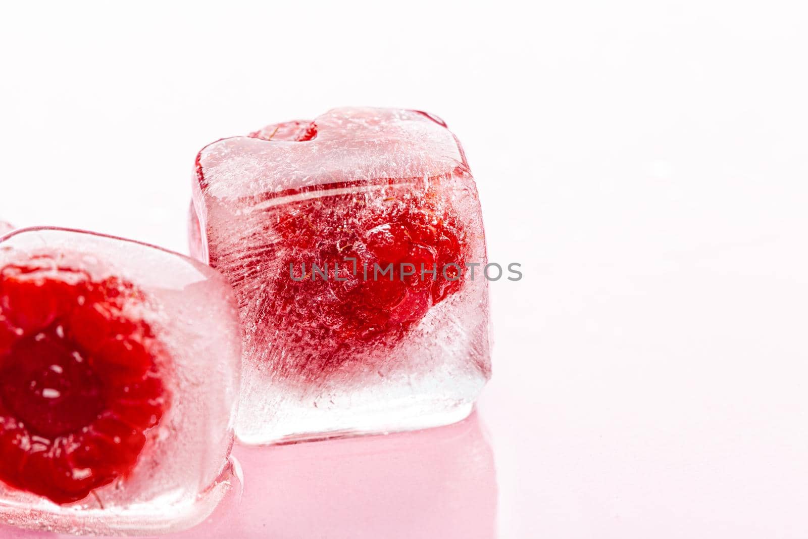
[[[53,260],[0,270],[0,480],[71,503],[125,478],[169,406],[133,285]]]

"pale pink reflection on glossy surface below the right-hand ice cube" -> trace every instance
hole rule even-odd
[[[493,539],[494,457],[477,413],[418,432],[237,447],[244,490],[174,539]],[[0,528],[4,539],[69,537]]]

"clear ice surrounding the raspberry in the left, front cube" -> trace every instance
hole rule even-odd
[[[48,279],[67,279],[64,282],[68,285],[77,276],[95,283],[128,284],[120,288],[123,295],[119,297],[128,298],[121,315],[124,320],[150,328],[153,339],[149,340],[156,343],[151,350],[160,351],[158,377],[164,394],[170,396],[170,404],[166,399],[158,423],[145,429],[145,445],[133,468],[83,499],[53,503],[42,495],[0,482],[2,521],[60,533],[151,535],[188,528],[204,520],[238,483],[229,451],[233,444],[241,343],[238,310],[229,284],[196,260],[120,238],[37,228],[20,229],[2,239],[0,267],[7,270],[31,264],[43,267],[41,273]],[[70,268],[68,272],[65,267]],[[86,302],[79,301],[78,305]],[[61,336],[63,331],[57,331]],[[80,324],[65,325],[67,339],[75,331],[96,330]],[[12,352],[6,361],[19,357],[19,353],[15,356]],[[89,357],[92,365],[92,352]],[[61,373],[61,368],[57,372]],[[132,406],[133,401],[119,402]],[[137,406],[154,406],[152,401],[151,405],[138,402],[136,411]],[[108,402],[105,406],[107,410],[120,409],[109,408]],[[133,413],[127,417],[135,417]],[[19,423],[19,417],[16,420]],[[75,436],[82,436],[80,433],[86,431],[75,432]],[[106,449],[94,458],[119,461],[119,452],[109,445],[120,444],[119,440],[106,440]],[[2,442],[0,450],[11,447],[5,439]],[[59,455],[53,454],[53,458]],[[31,482],[32,471],[22,466],[23,482]],[[74,479],[87,474],[87,470],[78,472]],[[45,485],[56,488],[53,483]]]

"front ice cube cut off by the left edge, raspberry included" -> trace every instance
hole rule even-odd
[[[229,285],[196,260],[65,229],[0,242],[0,518],[151,534],[234,481],[241,366]]]

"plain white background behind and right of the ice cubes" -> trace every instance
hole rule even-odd
[[[802,2],[0,14],[0,219],[185,252],[196,152],[442,116],[478,179],[500,537],[808,535]]]

